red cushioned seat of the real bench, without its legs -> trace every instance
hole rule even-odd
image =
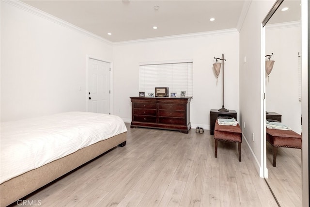
[[[216,121],[214,127],[214,139],[241,143],[241,128],[239,124],[237,124],[237,126],[225,126],[219,125]]]

